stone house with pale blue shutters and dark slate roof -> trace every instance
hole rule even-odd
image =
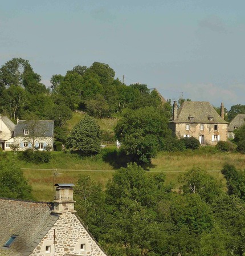
[[[20,151],[38,148],[43,151],[53,149],[54,121],[52,120],[17,120],[14,128],[14,145]]]

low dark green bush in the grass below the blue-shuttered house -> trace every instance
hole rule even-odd
[[[26,162],[43,164],[45,162],[49,162],[52,158],[52,155],[49,151],[32,151],[32,149],[27,149],[26,151],[19,152],[18,158]]]

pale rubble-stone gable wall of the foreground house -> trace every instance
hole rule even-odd
[[[46,246],[51,246],[50,253],[46,252]],[[64,256],[66,254],[106,256],[75,214],[71,212],[60,215],[31,256]]]

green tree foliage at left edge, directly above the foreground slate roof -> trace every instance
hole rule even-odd
[[[0,197],[32,200],[31,186],[13,161],[0,162]]]

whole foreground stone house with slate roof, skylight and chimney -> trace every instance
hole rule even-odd
[[[0,255],[106,256],[76,216],[73,184],[55,184],[52,203],[0,198]]]

